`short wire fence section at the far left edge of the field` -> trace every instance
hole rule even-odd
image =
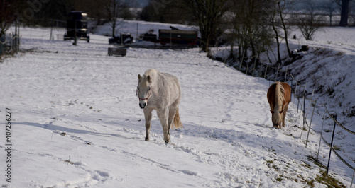
[[[14,33],[0,37],[0,57],[8,54],[15,54],[20,51],[20,37]]]

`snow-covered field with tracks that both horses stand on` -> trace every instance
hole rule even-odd
[[[354,36],[354,28],[349,30]],[[8,147],[6,108],[12,144],[11,163],[5,163],[6,152],[0,154],[3,174],[11,165],[11,183],[1,175],[1,185],[327,187],[318,182],[324,168],[310,160],[320,136],[311,134],[305,148],[297,104],[290,103],[285,129],[273,129],[266,99],[270,81],[246,76],[198,49],[130,48],[126,57],[109,57],[108,37],[101,35],[77,46],[49,40],[43,28],[21,28],[21,35],[26,53],[0,63],[0,149]],[[355,39],[340,41],[344,35],[332,40],[329,29],[312,45],[334,45],[354,57]],[[144,141],[143,110],[135,94],[137,75],[150,68],[177,76],[182,88],[184,129],[173,130],[168,144],[155,112],[151,141]],[[321,117],[312,124],[320,127]],[[354,136],[342,139],[347,141],[354,143]],[[322,143],[322,164],[328,152]],[[354,153],[347,154],[354,160]],[[332,156],[332,177],[349,187],[353,172]]]

